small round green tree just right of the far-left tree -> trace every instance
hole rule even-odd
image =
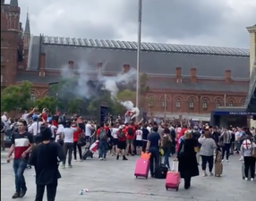
[[[58,106],[58,100],[55,96],[43,96],[35,101],[35,106],[38,107],[39,111],[47,108],[50,112],[55,112]]]

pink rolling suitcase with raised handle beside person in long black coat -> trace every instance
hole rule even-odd
[[[178,172],[178,162],[173,162],[172,171],[167,172],[166,175],[166,190],[171,188],[178,191],[181,183],[181,176]]]

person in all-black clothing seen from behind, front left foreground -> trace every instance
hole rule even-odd
[[[42,201],[45,187],[47,187],[47,200],[54,201],[58,179],[61,174],[58,171],[60,161],[64,161],[63,148],[51,142],[52,131],[45,127],[41,128],[42,143],[32,149],[30,165],[35,166],[37,195],[36,201]]]

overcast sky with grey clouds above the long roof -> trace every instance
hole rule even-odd
[[[8,0],[5,0],[8,3]],[[137,40],[138,0],[19,0],[33,35]],[[248,47],[255,0],[143,0],[142,41]]]

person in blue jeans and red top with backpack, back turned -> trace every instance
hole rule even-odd
[[[107,156],[107,131],[108,128],[105,128],[104,123],[100,125],[100,127],[97,130],[97,137],[98,137],[98,155],[99,155],[99,160],[106,160]]]

